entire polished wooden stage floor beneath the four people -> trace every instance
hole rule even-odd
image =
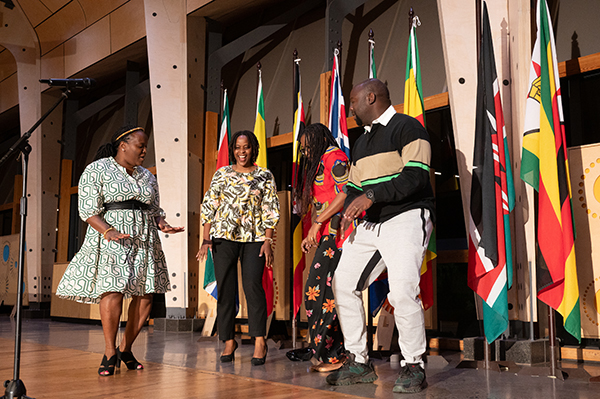
[[[0,315],[0,381],[13,377],[15,323]],[[114,376],[97,369],[104,341],[100,326],[50,320],[23,320],[20,379],[27,395],[44,398],[598,398],[600,365],[563,362],[565,381],[515,371],[493,372],[456,368],[458,352],[430,357],[429,387],[413,395],[392,393],[398,364],[373,361],[379,379],[374,384],[331,387],[325,374],[312,373],[310,362],[291,362],[269,340],[264,366],[252,366],[252,345],[240,345],[233,363],[222,364],[222,344],[199,333],[154,331],[146,327],[133,346],[144,364],[141,371],[124,366]],[[241,342],[238,338],[238,342]],[[521,370],[526,371],[527,367]],[[587,372],[587,374],[586,374]],[[0,388],[0,396],[4,388]]]

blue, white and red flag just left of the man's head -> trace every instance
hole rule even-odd
[[[329,103],[329,130],[342,151],[350,158],[350,140],[346,126],[346,106],[342,95],[340,67],[338,62],[339,50],[333,51],[333,70],[331,72],[331,102]]]

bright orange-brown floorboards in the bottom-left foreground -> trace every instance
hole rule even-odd
[[[14,340],[0,338],[0,375],[12,379]],[[97,353],[24,342],[20,379],[27,396],[43,398],[308,398],[314,388],[231,374],[144,362],[144,370],[121,366],[100,377]],[[4,388],[2,388],[4,392]],[[329,392],[329,398],[351,395]]]

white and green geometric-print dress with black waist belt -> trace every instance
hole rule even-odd
[[[100,303],[106,292],[125,297],[164,293],[169,276],[155,218],[162,213],[156,178],[136,166],[132,175],[114,158],[89,164],[79,179],[79,216],[84,221],[100,215],[130,238],[106,241],[88,226],[83,245],[73,257],[56,295],[82,303]],[[104,210],[104,204],[138,200],[146,210]]]

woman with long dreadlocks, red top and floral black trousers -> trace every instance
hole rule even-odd
[[[320,123],[307,126],[299,140],[302,159],[293,188],[294,199],[301,207],[302,215],[310,211],[311,204],[316,211],[313,224],[302,241],[305,253],[311,247],[317,247],[306,280],[304,304],[311,338],[310,350],[321,362],[313,370],[329,372],[343,363],[343,336],[331,279],[343,242],[338,229],[350,164],[329,129]],[[306,356],[302,350],[288,352],[291,360],[306,360],[307,357],[310,358],[310,354]]]

